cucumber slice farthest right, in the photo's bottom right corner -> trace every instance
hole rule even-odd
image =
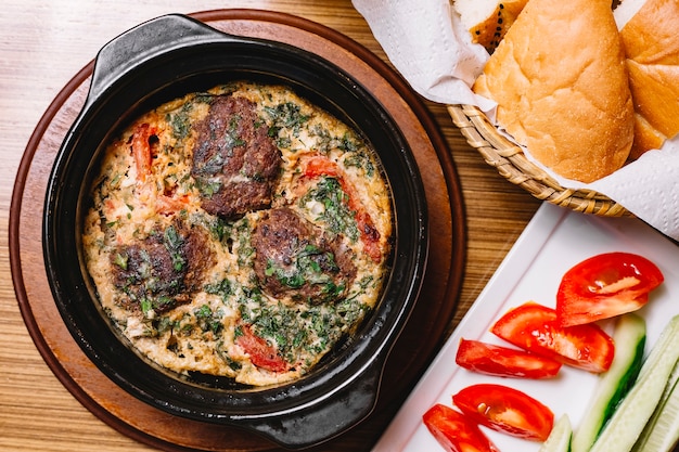
[[[632,452],[669,452],[679,441],[679,365]]]

